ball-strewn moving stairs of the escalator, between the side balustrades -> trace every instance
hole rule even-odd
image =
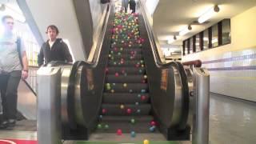
[[[150,133],[151,114],[138,17],[116,13],[96,133]],[[151,127],[150,127],[151,123]]]

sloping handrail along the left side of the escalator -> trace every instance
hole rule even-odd
[[[99,34],[99,37],[98,37],[98,41],[97,41],[97,44],[96,44],[93,59],[91,61],[86,61],[86,63],[89,64],[92,67],[95,67],[95,66],[98,65],[98,60],[100,58],[100,52],[102,51],[102,44],[103,44],[103,41],[104,41],[104,36],[106,34],[106,28],[107,28],[108,21],[109,21],[109,18],[110,18],[110,12],[111,12],[112,6],[114,4],[113,4],[113,2],[110,2],[110,4],[106,4],[106,5],[107,5],[106,10],[104,10],[105,12],[103,14],[103,15],[105,15],[105,18],[102,21],[102,24],[100,24],[100,25],[102,25],[102,30],[101,30],[101,34]]]

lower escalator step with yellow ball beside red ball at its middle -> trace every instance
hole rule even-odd
[[[150,110],[151,110],[151,105],[144,104],[144,103],[140,105],[126,104],[123,106],[124,108],[122,109],[120,104],[102,103],[102,111],[106,110],[106,112],[102,115],[109,115],[109,116],[148,115],[150,114]],[[128,109],[130,109],[130,114],[127,113]]]

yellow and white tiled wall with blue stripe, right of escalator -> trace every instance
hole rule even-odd
[[[256,6],[231,18],[231,43],[189,54],[210,70],[210,91],[256,102]]]

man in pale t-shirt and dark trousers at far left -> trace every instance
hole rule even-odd
[[[0,90],[3,121],[0,129],[15,126],[17,114],[18,83],[28,77],[26,50],[21,38],[13,33],[14,18],[2,18],[5,28],[0,36]]]

